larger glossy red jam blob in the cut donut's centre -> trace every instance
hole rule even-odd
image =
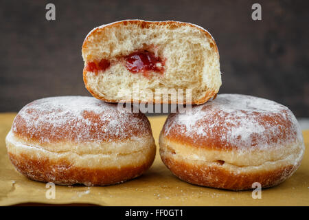
[[[155,54],[148,52],[147,50],[130,54],[126,56],[125,59],[126,69],[133,74],[138,72],[146,74],[150,71],[163,74],[164,62],[161,58],[155,56]]]

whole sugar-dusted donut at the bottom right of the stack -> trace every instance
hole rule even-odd
[[[159,144],[164,164],[180,179],[229,190],[275,186],[304,155],[301,129],[287,107],[237,94],[170,114]]]

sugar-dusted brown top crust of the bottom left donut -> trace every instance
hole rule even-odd
[[[143,113],[131,113],[87,96],[43,98],[16,115],[12,132],[27,140],[51,143],[112,142],[151,135]]]

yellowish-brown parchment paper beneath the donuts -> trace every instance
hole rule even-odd
[[[161,162],[159,151],[147,173],[115,186],[56,186],[56,198],[47,199],[48,188],[19,174],[8,159],[5,135],[16,113],[0,114],[0,205],[18,203],[91,203],[102,206],[309,206],[309,131],[304,131],[306,153],[297,172],[279,186],[233,192],[187,184],[174,177]],[[149,117],[157,142],[165,116]],[[157,150],[159,145],[157,144]]]

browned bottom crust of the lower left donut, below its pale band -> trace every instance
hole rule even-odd
[[[144,164],[122,168],[85,168],[71,166],[65,159],[51,161],[48,157],[32,159],[31,156],[8,153],[16,170],[25,177],[36,181],[53,182],[58,185],[84,184],[85,186],[105,186],[122,183],[144,173],[152,165],[154,154]]]

